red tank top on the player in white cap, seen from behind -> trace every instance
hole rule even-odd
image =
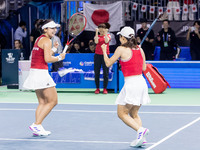
[[[139,48],[139,46],[137,47]],[[124,77],[142,74],[143,58],[139,49],[132,49],[132,57],[129,60],[120,60],[121,70]]]

